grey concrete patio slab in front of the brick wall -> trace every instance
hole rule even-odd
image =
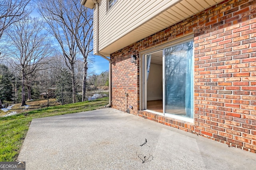
[[[26,170],[253,170],[256,154],[112,108],[33,119]]]

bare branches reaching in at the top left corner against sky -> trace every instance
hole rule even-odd
[[[0,0],[0,39],[10,25],[28,16],[30,9],[26,8],[26,6],[29,2],[30,0]],[[1,107],[2,102],[0,99]]]

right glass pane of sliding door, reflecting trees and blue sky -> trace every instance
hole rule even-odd
[[[193,118],[193,41],[164,50],[164,113]]]

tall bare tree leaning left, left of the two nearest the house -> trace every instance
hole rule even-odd
[[[50,33],[60,44],[66,66],[72,76],[72,98],[76,102],[76,79],[74,64],[76,63],[77,45],[75,35],[72,33],[73,23],[66,23],[70,12],[66,8],[70,6],[68,0],[45,0],[38,3],[38,11],[48,23]]]

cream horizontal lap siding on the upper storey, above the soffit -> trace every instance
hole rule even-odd
[[[166,10],[171,2],[174,0],[118,0],[106,12],[106,0],[102,0],[99,15],[99,49],[129,33],[158,12]]]

